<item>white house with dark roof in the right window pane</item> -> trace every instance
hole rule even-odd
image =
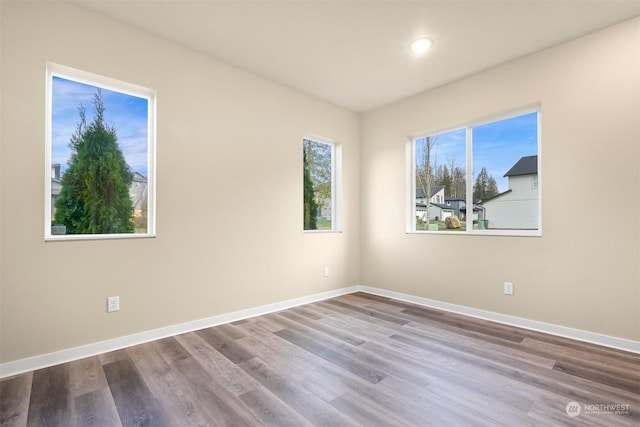
[[[509,189],[484,200],[484,217],[493,229],[538,228],[538,156],[522,157],[507,173]]]

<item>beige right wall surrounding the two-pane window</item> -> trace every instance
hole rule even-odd
[[[364,115],[362,284],[639,340],[639,22]],[[405,233],[407,135],[538,102],[541,238]]]

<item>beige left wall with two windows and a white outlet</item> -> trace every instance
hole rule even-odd
[[[1,7],[1,362],[358,283],[356,114],[75,6]],[[44,242],[47,61],[157,90],[157,238]],[[301,231],[309,134],[343,144],[340,234]]]

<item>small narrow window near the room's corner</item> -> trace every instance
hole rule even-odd
[[[303,139],[303,225],[305,231],[340,231],[340,146]]]

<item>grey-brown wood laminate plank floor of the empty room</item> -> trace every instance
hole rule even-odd
[[[2,426],[639,426],[640,356],[365,293],[0,382]]]

